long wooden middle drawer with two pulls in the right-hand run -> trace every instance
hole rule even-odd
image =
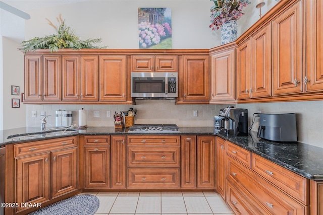
[[[308,207],[304,206],[293,198],[277,189],[274,185],[267,182],[251,169],[228,158],[227,178],[231,181],[239,183],[248,190],[255,201],[261,207],[259,210],[264,214],[307,214]]]

